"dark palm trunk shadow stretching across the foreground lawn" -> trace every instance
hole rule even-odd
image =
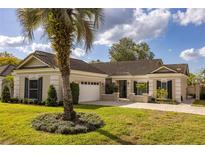
[[[99,129],[97,130],[97,132],[99,132],[100,134],[110,138],[111,140],[114,140],[120,144],[124,144],[124,145],[133,145],[132,142],[129,142],[129,141],[125,141],[125,140],[122,140],[121,138],[117,137],[116,135],[113,135],[111,133],[109,133],[108,131],[105,131],[105,130],[102,130],[102,129]]]

